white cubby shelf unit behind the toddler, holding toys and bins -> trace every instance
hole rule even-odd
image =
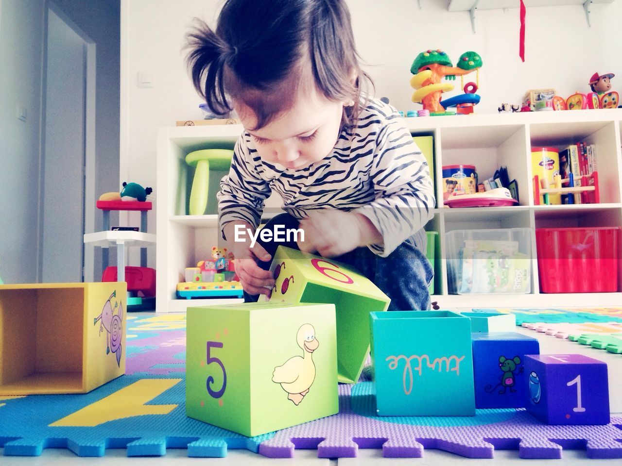
[[[426,229],[439,232],[441,257],[445,232],[457,229],[532,229],[532,286],[526,295],[448,295],[447,264],[435,263],[435,295],[443,308],[504,308],[550,306],[615,306],[622,303],[622,270],[617,293],[545,294],[539,290],[536,258],[537,227],[622,226],[622,109],[515,114],[475,114],[407,118],[413,135],[434,137],[434,170],[437,209]],[[216,212],[185,215],[187,183],[192,168],[183,161],[198,148],[233,148],[241,126],[162,128],[157,158],[157,311],[185,311],[188,306],[222,303],[218,299],[176,299],[177,283],[185,267],[211,254],[218,244]],[[596,145],[601,204],[534,206],[531,146],[560,148],[578,141]],[[480,180],[490,178],[501,165],[519,186],[519,206],[450,209],[442,205],[442,166],[475,165]],[[211,183],[211,181],[210,181]],[[211,183],[210,195],[217,186]],[[272,198],[271,198],[272,199]],[[266,216],[278,211],[276,198],[267,204]],[[622,249],[622,247],[621,247]],[[622,250],[618,251],[622,257]],[[619,261],[622,268],[622,260]],[[228,302],[233,302],[229,300]]]

